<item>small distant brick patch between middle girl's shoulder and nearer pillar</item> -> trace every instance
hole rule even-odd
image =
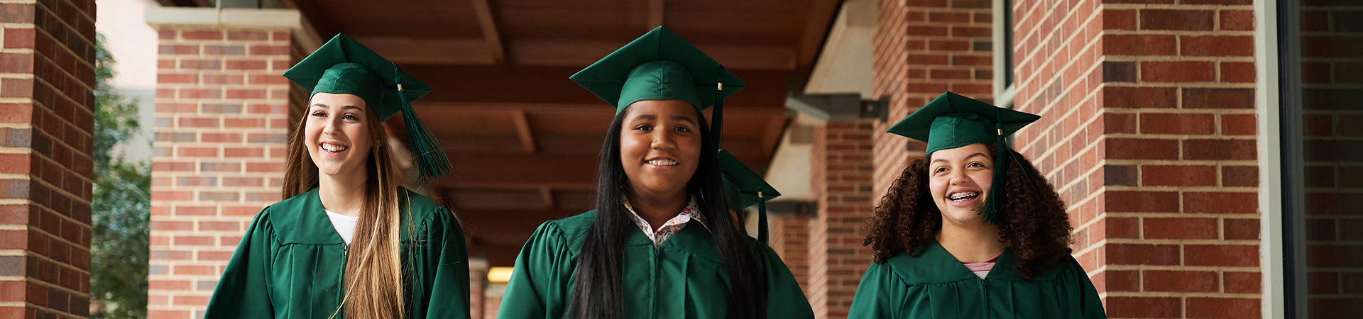
[[[795,282],[810,293],[810,217],[771,215],[767,224],[771,230],[767,245],[791,269]]]

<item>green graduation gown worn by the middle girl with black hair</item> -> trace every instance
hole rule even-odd
[[[572,299],[575,260],[594,218],[596,211],[587,211],[540,225],[515,260],[499,319],[563,318]],[[639,229],[626,233],[622,318],[725,318],[726,307],[750,307],[729,305],[728,273],[706,228],[686,226],[657,248]],[[814,318],[781,258],[755,240],[750,251],[766,274],[767,318]]]

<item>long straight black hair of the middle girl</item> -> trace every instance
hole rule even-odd
[[[626,232],[638,232],[630,222],[622,199],[630,191],[630,177],[620,164],[620,132],[630,106],[615,115],[605,145],[601,146],[598,166],[596,221],[582,241],[582,252],[577,260],[572,301],[568,304],[568,318],[575,319],[620,319],[623,309],[623,251]],[[696,196],[696,206],[709,224],[716,249],[724,258],[729,275],[728,318],[766,318],[766,274],[758,270],[752,260],[750,239],[740,233],[724,200],[724,184],[720,181],[718,145],[710,136],[705,115],[696,109],[701,127],[701,162],[695,174],[687,181],[687,192]]]

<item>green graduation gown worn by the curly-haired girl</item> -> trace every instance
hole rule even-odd
[[[1006,249],[984,279],[936,241],[920,256],[900,254],[861,277],[849,319],[1107,318],[1093,282],[1074,258],[1022,279]]]

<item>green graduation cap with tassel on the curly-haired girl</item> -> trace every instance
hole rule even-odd
[[[928,154],[973,143],[998,143],[999,151],[994,155],[994,166],[999,169],[994,170],[994,187],[990,188],[990,199],[984,210],[984,219],[996,224],[998,207],[1003,203],[998,189],[1003,188],[1005,172],[1002,168],[1007,168],[1009,154],[1003,138],[1037,119],[1041,117],[947,91],[904,117],[886,132],[927,142]]]

